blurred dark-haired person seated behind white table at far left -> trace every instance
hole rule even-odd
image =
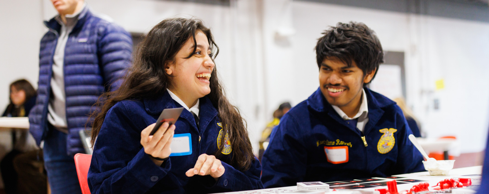
[[[10,84],[10,104],[7,106],[2,116],[23,117],[29,116],[29,111],[36,102],[36,90],[29,81],[19,79]],[[14,157],[25,152],[27,148],[26,130],[12,131],[13,148],[7,153],[0,162],[0,171],[3,179],[6,194],[17,194],[18,175],[14,170]],[[19,138],[17,138],[19,136]]]

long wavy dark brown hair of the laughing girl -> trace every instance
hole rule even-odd
[[[166,92],[170,84],[168,79],[170,75],[164,71],[165,65],[174,61],[178,51],[188,39],[193,39],[194,45],[197,45],[195,34],[198,31],[207,36],[213,54],[212,60],[214,60],[219,53],[219,47],[214,42],[210,29],[205,27],[200,19],[165,19],[151,29],[138,45],[139,48],[133,58],[133,66],[123,78],[121,86],[116,91],[104,93],[99,98],[96,106],[101,108],[92,114],[95,117],[92,123],[92,145],[95,143],[107,112],[115,103],[126,99],[154,98]],[[194,46],[194,52],[196,49],[197,46]],[[194,52],[188,58],[192,57]],[[254,160],[246,130],[246,121],[240,115],[238,108],[229,103],[225,97],[216,67],[209,81],[211,92],[206,97],[217,109],[222,126],[225,126],[223,130],[229,134],[231,146],[234,148],[229,165],[245,171],[249,169]],[[224,137],[221,137],[221,142],[224,142]],[[222,156],[223,147],[224,143],[219,145],[214,154],[217,158]]]

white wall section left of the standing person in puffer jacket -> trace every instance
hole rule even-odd
[[[39,41],[43,36],[41,2],[0,0],[0,109],[9,102],[11,82],[25,78],[37,88]]]

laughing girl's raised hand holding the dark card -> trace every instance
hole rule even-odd
[[[144,147],[144,152],[153,157],[167,158],[172,153],[170,144],[175,134],[175,125],[168,126],[168,122],[164,122],[153,136],[149,134],[155,127],[156,123],[153,123],[146,127],[141,132],[141,145]],[[151,158],[153,162],[160,166],[163,161]]]

